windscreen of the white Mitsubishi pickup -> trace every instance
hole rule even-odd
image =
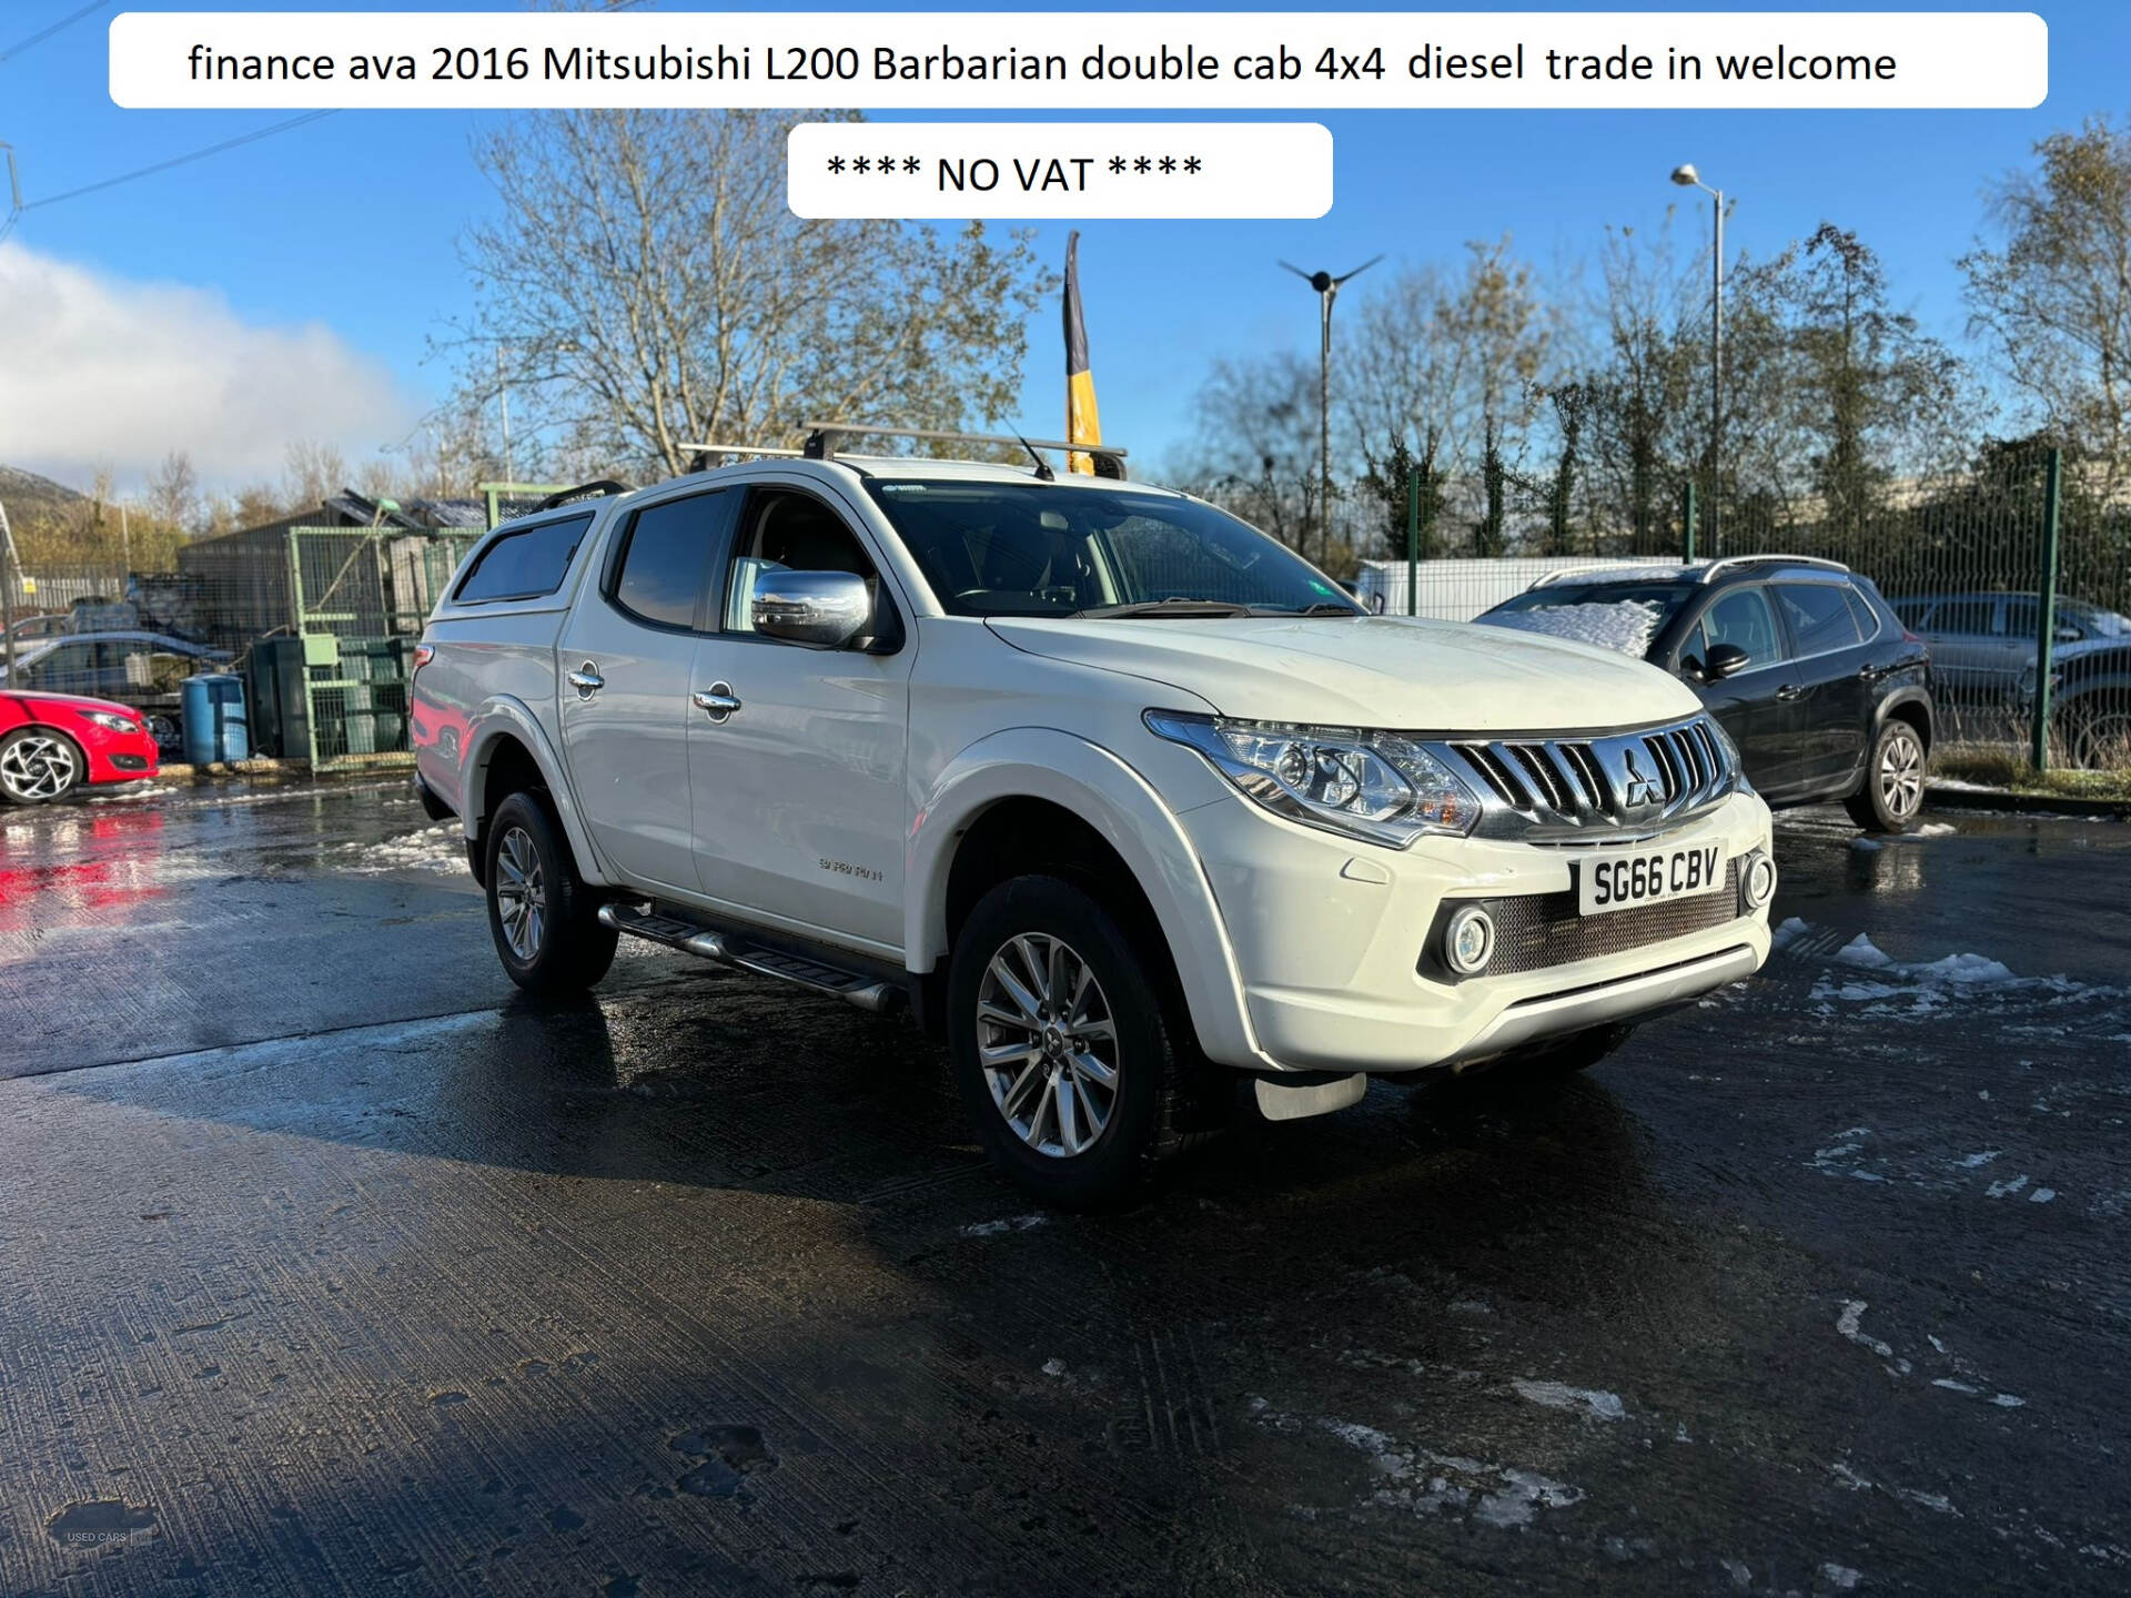
[[[953,616],[1074,616],[1164,599],[1360,614],[1291,550],[1200,501],[1034,482],[865,488]]]

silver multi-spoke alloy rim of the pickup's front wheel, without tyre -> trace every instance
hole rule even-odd
[[[991,1102],[1036,1153],[1085,1155],[1110,1125],[1117,1016],[1063,940],[1023,933],[991,957],[976,993],[976,1055]]]

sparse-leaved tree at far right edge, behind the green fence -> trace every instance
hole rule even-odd
[[[1961,258],[1969,332],[2114,492],[2131,471],[2131,130],[2093,117],[2035,153],[2039,170],[1988,190],[2003,245]]]

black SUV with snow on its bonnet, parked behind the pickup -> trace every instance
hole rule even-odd
[[[1771,805],[1841,799],[1858,827],[1901,833],[1924,803],[1931,654],[1869,580],[1833,560],[1558,571],[1479,620],[1675,673]]]

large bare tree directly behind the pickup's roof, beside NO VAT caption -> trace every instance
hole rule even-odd
[[[1029,237],[795,217],[784,141],[820,115],[556,111],[486,136],[503,207],[465,243],[460,398],[507,384],[522,435],[586,471],[684,471],[695,441],[788,443],[810,413],[1004,418],[1055,281]]]

